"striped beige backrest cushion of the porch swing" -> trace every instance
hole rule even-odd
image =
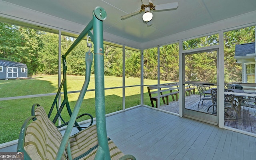
[[[37,120],[33,121],[26,131],[24,148],[32,160],[54,160],[62,140],[62,135],[57,127],[48,119],[44,108],[41,106],[37,107],[35,115]],[[34,135],[33,137],[28,136],[32,133]],[[30,139],[27,140],[27,138]],[[41,143],[38,143],[38,141]],[[30,150],[32,146],[36,148],[33,151]],[[34,155],[38,155],[40,158],[34,157]],[[65,160],[66,158],[67,154],[64,152],[62,159]]]

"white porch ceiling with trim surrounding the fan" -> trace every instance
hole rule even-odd
[[[0,0],[0,21],[78,34],[101,6],[107,13],[104,40],[137,49],[256,23],[256,0],[154,0],[154,5],[170,2],[178,2],[178,8],[153,12],[151,26],[142,21],[142,13],[120,20],[140,10],[141,0]]]

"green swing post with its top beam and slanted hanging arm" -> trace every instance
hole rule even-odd
[[[96,7],[93,11],[93,18],[89,24],[84,28],[78,38],[70,46],[67,52],[62,55],[63,62],[65,62],[66,56],[71,52],[71,50],[88,34],[90,39],[94,43],[94,70],[95,70],[95,109],[96,109],[96,126],[98,134],[98,149],[96,152],[96,160],[110,160],[110,153],[108,148],[108,139],[106,132],[106,118],[105,118],[105,95],[104,95],[104,50],[103,50],[103,23],[102,21],[106,19],[106,11],[101,7]],[[93,34],[91,30],[93,29]],[[92,54],[87,54],[89,58],[86,57],[86,68],[91,68],[92,64]],[[86,56],[87,56],[86,55]],[[68,138],[71,134],[72,128],[76,122],[76,117],[78,111],[82,104],[84,95],[88,88],[90,81],[90,71],[86,70],[86,78],[84,85],[82,86],[81,92],[76,101],[74,110],[70,115],[70,121],[66,128],[66,132],[62,138],[60,148],[57,153],[56,159],[59,160],[66,148],[69,146]],[[66,78],[66,77],[65,77]],[[66,82],[63,82],[64,88],[66,87]],[[66,91],[64,91],[64,94]],[[64,102],[66,105],[68,102]],[[75,124],[77,125],[77,124]]]

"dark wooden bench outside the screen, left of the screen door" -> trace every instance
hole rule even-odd
[[[174,100],[174,95],[175,100],[178,101],[178,93],[179,91],[176,92],[172,92],[173,90],[175,90],[176,88],[164,88],[164,86],[160,86],[162,88],[160,88],[159,92],[160,92],[160,96],[159,98],[162,98],[164,104],[169,104],[169,96],[172,96],[172,100]],[[158,87],[157,86],[148,86],[148,94],[149,94],[149,98],[150,98],[150,102],[152,107],[154,107],[154,102],[156,101],[156,108],[158,108],[157,106],[157,102],[158,102]],[[167,92],[167,93],[166,93]],[[166,103],[164,98],[166,98]]]

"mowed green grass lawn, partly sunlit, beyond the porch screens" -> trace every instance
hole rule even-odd
[[[34,94],[56,93],[58,90],[58,75],[35,76],[29,80],[0,80],[0,98],[26,96]],[[122,86],[122,77],[104,77],[105,88]],[[84,83],[84,76],[68,76],[68,91],[80,90]],[[160,83],[168,83],[161,81]],[[157,80],[144,80],[145,85],[157,84]],[[140,85],[140,78],[126,78],[126,86]],[[88,89],[94,89],[94,75],[90,78]],[[73,109],[79,93],[68,94],[70,106]],[[31,107],[39,103],[49,112],[55,96],[24,98],[0,101],[0,144],[18,139],[23,122],[31,116]],[[80,113],[90,113],[95,117],[95,92],[86,92]],[[125,88],[125,108],[140,104],[140,86]],[[151,106],[148,91],[144,87],[144,104]],[[105,90],[106,114],[122,110],[122,88]],[[54,110],[55,111],[55,110]],[[56,112],[53,112],[54,115]],[[69,120],[66,110],[62,116]],[[52,118],[52,117],[51,117]],[[85,120],[84,119],[81,120]],[[80,120],[80,121],[81,121]]]

